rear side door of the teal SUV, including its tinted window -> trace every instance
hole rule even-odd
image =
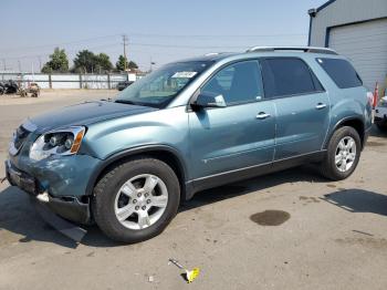
[[[274,160],[321,149],[330,124],[327,93],[299,58],[262,60],[265,97],[276,108]]]

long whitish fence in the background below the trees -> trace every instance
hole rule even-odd
[[[116,89],[118,82],[136,81],[139,76],[129,74],[43,74],[0,73],[0,82],[12,80],[27,87],[34,82],[41,89]]]

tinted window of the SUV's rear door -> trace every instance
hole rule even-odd
[[[324,91],[317,77],[300,59],[265,59],[262,61],[262,73],[266,97]]]

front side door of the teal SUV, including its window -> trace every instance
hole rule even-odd
[[[275,110],[263,101],[258,61],[230,64],[217,72],[201,92],[222,95],[227,107],[189,113],[194,179],[271,164]]]

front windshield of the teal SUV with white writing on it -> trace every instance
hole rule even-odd
[[[154,107],[166,107],[190,82],[212,62],[178,62],[144,76],[125,89],[115,102]]]

